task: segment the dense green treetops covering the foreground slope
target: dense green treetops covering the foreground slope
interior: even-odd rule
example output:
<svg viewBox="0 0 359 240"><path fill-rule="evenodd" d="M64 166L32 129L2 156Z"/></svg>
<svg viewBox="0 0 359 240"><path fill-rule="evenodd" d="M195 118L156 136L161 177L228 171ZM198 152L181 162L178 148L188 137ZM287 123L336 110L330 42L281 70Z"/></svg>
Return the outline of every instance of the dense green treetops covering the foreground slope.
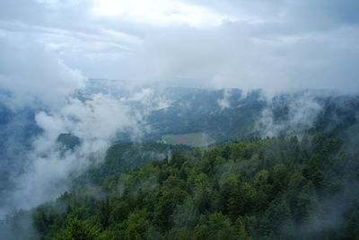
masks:
<svg viewBox="0 0 359 240"><path fill-rule="evenodd" d="M328 200L336 200L359 170L358 164L345 165L345 174L338 170L347 155L337 138L241 140L191 153L173 151L142 168L114 173L108 167L126 161L130 155L124 153L139 154L127 147L109 148L108 166L88 173L105 176L96 191L82 187L34 210L44 239L350 239L358 234L355 207L342 209L346 218L340 224L327 224L337 214ZM343 197L349 206L358 206L357 199L356 191Z"/></svg>

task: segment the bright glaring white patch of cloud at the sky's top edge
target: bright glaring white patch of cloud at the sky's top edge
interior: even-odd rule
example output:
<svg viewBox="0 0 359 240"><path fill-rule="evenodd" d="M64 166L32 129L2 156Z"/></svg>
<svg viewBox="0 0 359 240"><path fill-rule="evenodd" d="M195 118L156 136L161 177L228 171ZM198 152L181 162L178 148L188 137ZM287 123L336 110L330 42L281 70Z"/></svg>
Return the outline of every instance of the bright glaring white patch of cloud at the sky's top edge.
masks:
<svg viewBox="0 0 359 240"><path fill-rule="evenodd" d="M191 27L206 27L234 21L233 17L215 13L206 6L178 0L96 0L92 12L102 17L125 18L160 26L188 24Z"/></svg>

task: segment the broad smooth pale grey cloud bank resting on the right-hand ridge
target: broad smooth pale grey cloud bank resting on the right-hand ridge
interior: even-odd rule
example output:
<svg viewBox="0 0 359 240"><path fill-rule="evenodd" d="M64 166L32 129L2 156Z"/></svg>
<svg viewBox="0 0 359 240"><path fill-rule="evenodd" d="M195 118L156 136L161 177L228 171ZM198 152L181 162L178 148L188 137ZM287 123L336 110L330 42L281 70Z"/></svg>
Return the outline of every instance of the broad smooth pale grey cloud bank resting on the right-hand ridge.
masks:
<svg viewBox="0 0 359 240"><path fill-rule="evenodd" d="M149 36L128 61L128 76L202 86L288 89L329 88L356 93L356 27L327 33L253 36L241 23L211 30L176 29ZM135 71L136 69L136 71ZM193 82L193 80L192 80Z"/></svg>

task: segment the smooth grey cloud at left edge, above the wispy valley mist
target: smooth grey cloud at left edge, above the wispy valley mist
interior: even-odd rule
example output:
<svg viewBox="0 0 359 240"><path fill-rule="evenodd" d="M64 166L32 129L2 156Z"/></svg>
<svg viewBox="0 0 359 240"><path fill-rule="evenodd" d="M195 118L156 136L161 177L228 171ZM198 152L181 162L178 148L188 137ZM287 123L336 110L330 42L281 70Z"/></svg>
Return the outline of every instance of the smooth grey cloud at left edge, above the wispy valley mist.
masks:
<svg viewBox="0 0 359 240"><path fill-rule="evenodd" d="M56 106L66 101L84 77L31 41L0 40L1 88L13 93L13 106L42 102ZM10 102L6 102L10 103Z"/></svg>

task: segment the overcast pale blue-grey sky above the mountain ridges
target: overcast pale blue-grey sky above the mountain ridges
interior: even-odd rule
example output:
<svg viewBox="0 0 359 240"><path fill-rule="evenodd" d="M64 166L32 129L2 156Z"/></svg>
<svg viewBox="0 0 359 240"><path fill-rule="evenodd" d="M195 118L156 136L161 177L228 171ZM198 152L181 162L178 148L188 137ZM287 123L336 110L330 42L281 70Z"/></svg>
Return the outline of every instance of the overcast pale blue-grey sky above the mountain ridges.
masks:
<svg viewBox="0 0 359 240"><path fill-rule="evenodd" d="M77 80L357 93L358 12L357 0L2 0L0 79L54 58Z"/></svg>

